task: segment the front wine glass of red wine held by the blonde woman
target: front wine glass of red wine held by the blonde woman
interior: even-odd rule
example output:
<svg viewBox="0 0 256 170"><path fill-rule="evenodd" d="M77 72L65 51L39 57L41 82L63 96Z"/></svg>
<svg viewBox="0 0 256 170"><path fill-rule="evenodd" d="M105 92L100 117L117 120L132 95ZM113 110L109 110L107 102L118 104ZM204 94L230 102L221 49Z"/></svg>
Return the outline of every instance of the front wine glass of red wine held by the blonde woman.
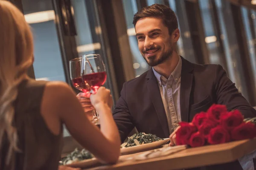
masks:
<svg viewBox="0 0 256 170"><path fill-rule="evenodd" d="M82 56L81 76L85 84L96 93L100 86L104 85L107 79L105 64L99 54L90 54ZM96 122L99 122L95 119Z"/></svg>

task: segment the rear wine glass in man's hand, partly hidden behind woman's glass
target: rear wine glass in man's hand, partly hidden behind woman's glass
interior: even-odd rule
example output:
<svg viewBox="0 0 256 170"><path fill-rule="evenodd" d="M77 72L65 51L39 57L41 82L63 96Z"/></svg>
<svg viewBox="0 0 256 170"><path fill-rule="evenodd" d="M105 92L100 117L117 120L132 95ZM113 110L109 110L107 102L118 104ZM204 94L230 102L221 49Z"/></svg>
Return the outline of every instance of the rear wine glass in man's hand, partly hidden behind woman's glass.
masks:
<svg viewBox="0 0 256 170"><path fill-rule="evenodd" d="M86 94L90 94L91 88L90 85L86 84L81 77L81 64L82 57L75 58L70 60L70 79L73 86L81 92ZM91 122L95 123L95 119L97 118L96 110L92 111Z"/></svg>

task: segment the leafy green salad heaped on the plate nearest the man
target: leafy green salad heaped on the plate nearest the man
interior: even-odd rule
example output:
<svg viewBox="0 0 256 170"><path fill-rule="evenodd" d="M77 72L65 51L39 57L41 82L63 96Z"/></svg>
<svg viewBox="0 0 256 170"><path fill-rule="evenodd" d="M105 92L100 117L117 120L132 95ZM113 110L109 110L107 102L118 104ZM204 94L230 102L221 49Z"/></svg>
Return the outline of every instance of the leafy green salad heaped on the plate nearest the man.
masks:
<svg viewBox="0 0 256 170"><path fill-rule="evenodd" d="M121 144L121 148L125 147L132 147L132 146L137 146L140 144L147 144L147 143L152 143L156 141L163 140L162 138L157 137L156 135L152 134L146 134L146 133L138 133L134 134L133 136L128 137L127 142L124 142Z"/></svg>

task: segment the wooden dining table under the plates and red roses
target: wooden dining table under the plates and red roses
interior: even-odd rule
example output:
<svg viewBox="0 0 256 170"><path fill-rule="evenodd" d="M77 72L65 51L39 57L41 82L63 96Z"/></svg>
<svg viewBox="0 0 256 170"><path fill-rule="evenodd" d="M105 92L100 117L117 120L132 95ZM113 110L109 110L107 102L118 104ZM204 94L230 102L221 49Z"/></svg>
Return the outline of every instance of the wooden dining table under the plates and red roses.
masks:
<svg viewBox="0 0 256 170"><path fill-rule="evenodd" d="M169 156L140 161L118 162L114 165L102 165L87 170L179 170L236 161L253 150L256 150L256 138L188 148ZM139 153L124 156L134 156L136 154ZM124 156L120 156L120 158Z"/></svg>

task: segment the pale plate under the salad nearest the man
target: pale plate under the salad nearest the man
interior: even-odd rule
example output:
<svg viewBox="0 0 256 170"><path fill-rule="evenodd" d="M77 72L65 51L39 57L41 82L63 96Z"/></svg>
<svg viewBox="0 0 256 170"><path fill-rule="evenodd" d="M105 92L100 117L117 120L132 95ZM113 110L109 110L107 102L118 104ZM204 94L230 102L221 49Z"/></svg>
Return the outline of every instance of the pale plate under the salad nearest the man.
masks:
<svg viewBox="0 0 256 170"><path fill-rule="evenodd" d="M144 151L144 150L154 149L156 147L162 146L163 144L166 144L169 140L170 140L170 138L166 138L164 140L152 142L152 143L148 143L148 144L140 144L137 146L125 147L125 148L121 149L121 154L123 155L123 154L128 154L128 153L137 153L137 152Z"/></svg>

